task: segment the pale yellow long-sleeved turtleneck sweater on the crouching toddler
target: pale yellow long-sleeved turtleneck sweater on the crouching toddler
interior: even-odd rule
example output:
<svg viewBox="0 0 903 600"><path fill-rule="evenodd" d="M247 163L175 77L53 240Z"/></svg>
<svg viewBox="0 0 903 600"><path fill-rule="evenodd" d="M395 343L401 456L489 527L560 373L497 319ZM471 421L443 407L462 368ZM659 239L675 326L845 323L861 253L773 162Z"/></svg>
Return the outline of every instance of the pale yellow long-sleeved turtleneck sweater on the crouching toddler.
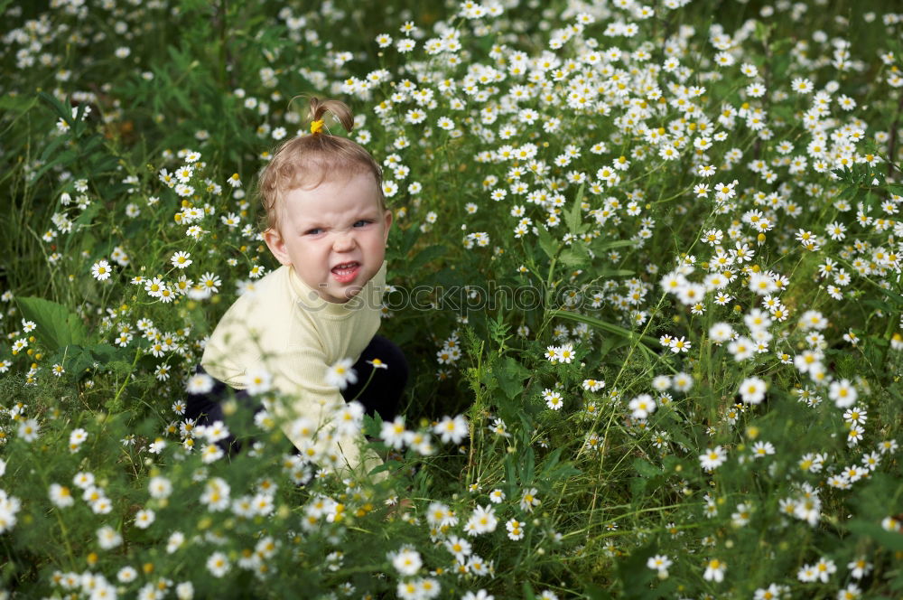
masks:
<svg viewBox="0 0 903 600"><path fill-rule="evenodd" d="M273 387L290 398L276 406L275 416L284 423L283 431L292 443L310 455L309 440L294 430L290 419L307 417L320 427L344 404L339 389L326 383L326 372L341 359L358 361L379 328L385 288L385 262L360 293L344 304L321 299L292 267L279 267L229 307L210 335L201 365L211 377L234 389L248 387L249 373L269 372ZM335 438L340 471L365 475L380 464L372 451L361 458L358 443L362 439ZM329 440L321 440L316 449L329 446Z"/></svg>

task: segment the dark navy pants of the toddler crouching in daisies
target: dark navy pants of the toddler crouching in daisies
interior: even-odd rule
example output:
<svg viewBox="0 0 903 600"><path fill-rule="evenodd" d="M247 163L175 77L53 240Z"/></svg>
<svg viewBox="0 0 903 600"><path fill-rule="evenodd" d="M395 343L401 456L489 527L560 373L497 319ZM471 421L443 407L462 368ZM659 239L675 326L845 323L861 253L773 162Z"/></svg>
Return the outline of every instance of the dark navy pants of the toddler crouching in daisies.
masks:
<svg viewBox="0 0 903 600"><path fill-rule="evenodd" d="M383 361L388 368L374 369L368 362L374 359ZM407 383L408 368L404 352L383 336L375 335L354 363L354 370L358 373L358 382L342 389L342 398L346 402L357 398L364 405L366 414L371 417L378 414L384 421L394 419ZM200 365L195 371L205 372ZM187 395L185 418L195 419L197 425L209 425L216 421L228 425L220 403L230 395L234 395L239 404L250 408L255 414L263 409L257 398L244 389L231 389L222 381L214 380L213 389L206 394ZM241 451L241 445L231 434L217 444L229 454Z"/></svg>

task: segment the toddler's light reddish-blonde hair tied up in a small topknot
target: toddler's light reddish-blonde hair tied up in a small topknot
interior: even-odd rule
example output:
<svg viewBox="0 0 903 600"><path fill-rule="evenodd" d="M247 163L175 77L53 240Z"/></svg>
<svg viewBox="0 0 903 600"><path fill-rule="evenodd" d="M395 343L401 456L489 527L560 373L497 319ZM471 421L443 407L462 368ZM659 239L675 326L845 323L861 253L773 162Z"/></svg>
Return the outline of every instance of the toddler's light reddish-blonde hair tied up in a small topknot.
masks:
<svg viewBox="0 0 903 600"><path fill-rule="evenodd" d="M314 97L309 105L308 119L312 123L323 121L329 112L348 133L354 128L351 109L344 102ZM349 177L372 173L379 191L379 208L386 210L383 173L373 156L347 137L332 136L325 127L318 129L316 133L296 136L279 145L261 173L257 194L265 211L264 229L278 225L278 205L287 192L301 187L315 188L337 174Z"/></svg>

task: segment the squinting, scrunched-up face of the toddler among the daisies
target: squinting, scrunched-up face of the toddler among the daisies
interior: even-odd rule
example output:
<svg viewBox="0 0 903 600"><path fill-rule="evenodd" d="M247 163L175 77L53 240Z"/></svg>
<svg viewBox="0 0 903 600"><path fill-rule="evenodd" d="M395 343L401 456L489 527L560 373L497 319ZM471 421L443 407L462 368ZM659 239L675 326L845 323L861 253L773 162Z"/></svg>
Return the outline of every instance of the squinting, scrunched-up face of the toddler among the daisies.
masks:
<svg viewBox="0 0 903 600"><path fill-rule="evenodd" d="M347 302L382 267L392 212L380 210L372 173L295 188L276 210L279 226L264 232L266 245L323 300Z"/></svg>

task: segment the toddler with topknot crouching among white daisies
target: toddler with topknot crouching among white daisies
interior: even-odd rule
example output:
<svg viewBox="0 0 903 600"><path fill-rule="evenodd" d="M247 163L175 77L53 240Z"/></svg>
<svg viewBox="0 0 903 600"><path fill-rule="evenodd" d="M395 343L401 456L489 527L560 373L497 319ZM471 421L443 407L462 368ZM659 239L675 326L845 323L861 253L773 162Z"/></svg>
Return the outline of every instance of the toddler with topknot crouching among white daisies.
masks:
<svg viewBox="0 0 903 600"><path fill-rule="evenodd" d="M310 434L329 430L330 415L354 398L370 415L396 416L407 365L395 344L376 335L392 212L379 165L360 145L330 135L327 111L348 132L354 127L345 104L312 98L311 133L280 145L261 174L263 237L282 267L219 321L200 363L214 389L189 394L186 415L199 424L224 420L219 400L227 386L247 401L263 378L287 398L273 412L299 451L363 475L379 459L359 455L359 436L334 433L313 445ZM340 391L334 366L345 359L358 379Z"/></svg>

